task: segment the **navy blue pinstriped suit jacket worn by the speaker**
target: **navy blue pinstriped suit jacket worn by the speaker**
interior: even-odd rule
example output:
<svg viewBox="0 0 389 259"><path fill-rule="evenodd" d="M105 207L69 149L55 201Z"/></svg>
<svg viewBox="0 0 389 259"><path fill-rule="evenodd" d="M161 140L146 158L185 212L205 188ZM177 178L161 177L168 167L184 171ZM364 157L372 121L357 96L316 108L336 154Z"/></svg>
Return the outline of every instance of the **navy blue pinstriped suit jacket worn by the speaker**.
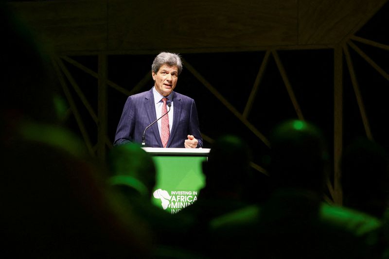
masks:
<svg viewBox="0 0 389 259"><path fill-rule="evenodd" d="M203 139L198 126L195 101L173 91L173 105L173 126L166 147L184 148L184 142L188 135L193 135L198 140L197 147L202 147ZM172 116L170 112L169 116ZM122 117L116 130L114 145L127 142L141 143L144 129L155 120L157 120L157 115L153 88L129 96L124 104ZM157 123L146 130L146 147L163 147Z"/></svg>

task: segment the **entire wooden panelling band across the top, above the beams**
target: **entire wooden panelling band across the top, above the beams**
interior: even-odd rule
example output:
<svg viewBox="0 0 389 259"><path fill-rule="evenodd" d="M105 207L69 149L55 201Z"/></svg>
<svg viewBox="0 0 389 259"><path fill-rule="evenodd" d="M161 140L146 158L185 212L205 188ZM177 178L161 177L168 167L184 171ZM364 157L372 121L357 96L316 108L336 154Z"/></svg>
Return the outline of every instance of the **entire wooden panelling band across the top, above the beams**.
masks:
<svg viewBox="0 0 389 259"><path fill-rule="evenodd" d="M57 52L264 50L337 44L387 0L10 2Z"/></svg>

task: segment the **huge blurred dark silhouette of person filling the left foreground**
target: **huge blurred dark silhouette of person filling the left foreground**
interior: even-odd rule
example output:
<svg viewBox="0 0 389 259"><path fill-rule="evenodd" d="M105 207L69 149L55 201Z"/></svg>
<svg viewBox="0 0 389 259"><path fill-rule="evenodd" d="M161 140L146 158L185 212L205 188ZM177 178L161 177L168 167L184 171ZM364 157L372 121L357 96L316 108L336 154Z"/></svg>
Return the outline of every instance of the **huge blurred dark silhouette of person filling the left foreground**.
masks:
<svg viewBox="0 0 389 259"><path fill-rule="evenodd" d="M116 206L99 177L103 170L79 138L56 124L48 59L3 2L0 21L1 255L147 257L147 228Z"/></svg>

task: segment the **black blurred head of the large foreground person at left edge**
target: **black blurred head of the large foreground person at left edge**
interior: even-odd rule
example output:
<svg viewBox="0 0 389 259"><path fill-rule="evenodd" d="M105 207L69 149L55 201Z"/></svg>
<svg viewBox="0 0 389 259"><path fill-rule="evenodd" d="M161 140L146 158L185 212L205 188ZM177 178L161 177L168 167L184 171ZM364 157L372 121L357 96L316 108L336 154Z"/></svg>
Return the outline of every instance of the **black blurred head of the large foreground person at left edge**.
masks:
<svg viewBox="0 0 389 259"><path fill-rule="evenodd" d="M0 3L0 116L3 120L55 122L61 102L48 55L36 37L5 3Z"/></svg>

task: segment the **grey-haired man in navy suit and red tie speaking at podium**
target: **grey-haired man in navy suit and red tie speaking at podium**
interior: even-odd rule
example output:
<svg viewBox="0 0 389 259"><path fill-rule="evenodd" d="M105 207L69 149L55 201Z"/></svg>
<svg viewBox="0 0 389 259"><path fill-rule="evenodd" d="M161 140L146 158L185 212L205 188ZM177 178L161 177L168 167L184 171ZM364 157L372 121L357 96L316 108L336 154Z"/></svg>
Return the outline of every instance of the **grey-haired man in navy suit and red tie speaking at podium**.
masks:
<svg viewBox="0 0 389 259"><path fill-rule="evenodd" d="M151 66L154 86L127 98L114 145L143 142L147 147L160 148L203 146L195 101L173 91L181 71L177 54L157 55Z"/></svg>

